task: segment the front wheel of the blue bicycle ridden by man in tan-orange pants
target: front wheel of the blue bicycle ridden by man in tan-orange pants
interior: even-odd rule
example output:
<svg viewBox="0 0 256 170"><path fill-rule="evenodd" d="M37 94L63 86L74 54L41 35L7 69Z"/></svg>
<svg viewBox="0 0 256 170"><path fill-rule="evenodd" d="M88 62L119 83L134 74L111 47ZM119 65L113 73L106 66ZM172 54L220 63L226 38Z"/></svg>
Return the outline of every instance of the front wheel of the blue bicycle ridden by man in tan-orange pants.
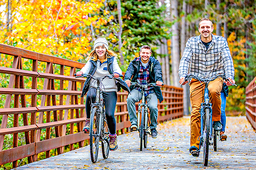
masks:
<svg viewBox="0 0 256 170"><path fill-rule="evenodd" d="M209 136L210 136L210 110L205 108L204 113L204 127L203 127L203 150L204 150L204 166L208 165L209 155Z"/></svg>

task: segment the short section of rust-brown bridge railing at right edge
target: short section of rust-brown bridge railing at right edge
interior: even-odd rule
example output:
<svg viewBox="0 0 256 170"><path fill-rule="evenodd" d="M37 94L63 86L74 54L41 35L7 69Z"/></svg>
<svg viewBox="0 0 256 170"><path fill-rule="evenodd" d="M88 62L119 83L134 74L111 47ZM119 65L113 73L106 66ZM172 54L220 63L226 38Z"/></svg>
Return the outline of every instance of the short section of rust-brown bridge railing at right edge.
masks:
<svg viewBox="0 0 256 170"><path fill-rule="evenodd" d="M246 117L256 129L256 77L246 87Z"/></svg>

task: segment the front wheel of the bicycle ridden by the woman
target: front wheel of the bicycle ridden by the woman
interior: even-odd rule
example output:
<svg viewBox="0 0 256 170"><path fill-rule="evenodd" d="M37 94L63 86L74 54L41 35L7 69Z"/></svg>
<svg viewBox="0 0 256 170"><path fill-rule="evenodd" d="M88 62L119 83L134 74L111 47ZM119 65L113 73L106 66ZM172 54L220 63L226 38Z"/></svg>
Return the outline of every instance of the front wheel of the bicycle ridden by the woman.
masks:
<svg viewBox="0 0 256 170"><path fill-rule="evenodd" d="M92 163L96 163L99 152L99 125L98 125L98 117L97 117L97 108L92 108L91 110L91 118L90 118L90 155Z"/></svg>

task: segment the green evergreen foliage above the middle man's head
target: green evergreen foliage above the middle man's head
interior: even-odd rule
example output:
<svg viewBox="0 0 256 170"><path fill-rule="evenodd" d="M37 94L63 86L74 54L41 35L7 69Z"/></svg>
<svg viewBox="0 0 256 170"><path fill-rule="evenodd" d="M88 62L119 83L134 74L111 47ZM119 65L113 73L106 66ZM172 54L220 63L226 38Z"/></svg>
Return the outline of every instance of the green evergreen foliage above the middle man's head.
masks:
<svg viewBox="0 0 256 170"><path fill-rule="evenodd" d="M142 45L159 45L157 40L170 38L167 31L171 25L163 17L165 9L164 5L158 7L157 0L122 1L122 39L125 41L124 48L129 50L129 55Z"/></svg>

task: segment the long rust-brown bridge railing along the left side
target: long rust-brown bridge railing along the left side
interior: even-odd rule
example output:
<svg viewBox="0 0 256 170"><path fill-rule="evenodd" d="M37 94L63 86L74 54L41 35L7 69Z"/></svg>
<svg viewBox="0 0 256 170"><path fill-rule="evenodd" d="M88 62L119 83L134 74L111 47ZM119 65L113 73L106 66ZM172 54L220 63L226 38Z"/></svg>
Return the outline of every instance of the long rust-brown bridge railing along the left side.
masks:
<svg viewBox="0 0 256 170"><path fill-rule="evenodd" d="M82 132L86 114L80 94L85 79L73 75L84 64L4 44L0 44L1 54L13 56L13 63L11 68L0 67L2 75L10 75L8 87L0 87L1 98L5 100L0 108L0 165L13 162L15 168L17 160L25 157L30 163L42 152L46 152L46 158L50 157L51 149L61 154L66 145L70 150L76 143L83 147L89 138ZM182 117L183 90L165 85L162 93L164 102L158 106L158 121ZM118 134L129 132L127 95L118 92L115 113ZM25 136L25 144L18 144L20 133ZM13 146L4 148L5 136L10 134L13 134Z"/></svg>

